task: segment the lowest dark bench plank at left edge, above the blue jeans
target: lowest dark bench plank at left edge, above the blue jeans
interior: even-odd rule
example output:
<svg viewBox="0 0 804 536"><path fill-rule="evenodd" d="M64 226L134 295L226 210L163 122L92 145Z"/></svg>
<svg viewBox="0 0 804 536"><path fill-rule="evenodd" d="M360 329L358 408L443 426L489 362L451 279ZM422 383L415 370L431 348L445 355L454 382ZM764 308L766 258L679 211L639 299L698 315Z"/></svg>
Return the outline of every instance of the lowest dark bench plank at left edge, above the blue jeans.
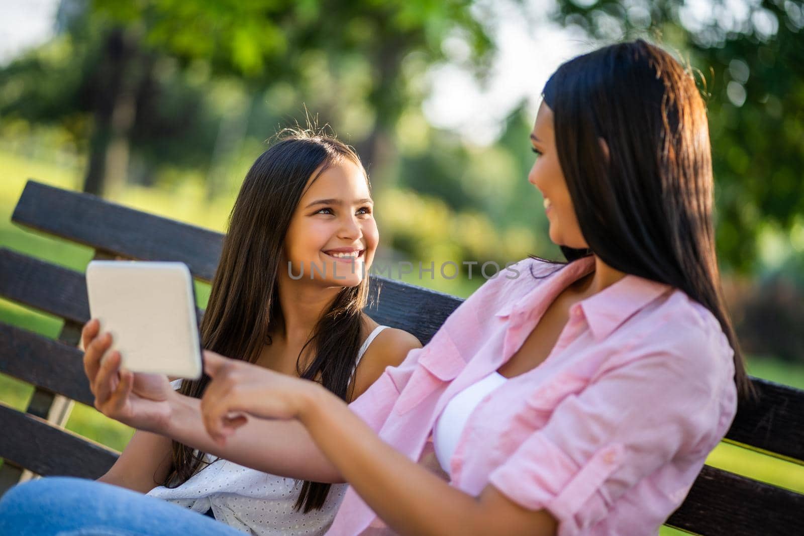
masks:
<svg viewBox="0 0 804 536"><path fill-rule="evenodd" d="M117 460L117 452L109 448L2 403L0 430L0 457L45 477L94 479Z"/></svg>

